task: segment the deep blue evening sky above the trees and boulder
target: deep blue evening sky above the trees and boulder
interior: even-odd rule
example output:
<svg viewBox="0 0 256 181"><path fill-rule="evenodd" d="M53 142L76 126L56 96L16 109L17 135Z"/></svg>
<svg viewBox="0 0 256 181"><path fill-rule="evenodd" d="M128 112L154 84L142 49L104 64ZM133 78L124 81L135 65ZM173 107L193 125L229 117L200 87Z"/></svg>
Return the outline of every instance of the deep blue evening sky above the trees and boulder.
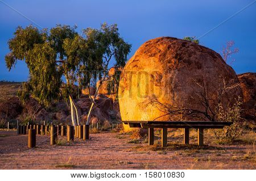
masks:
<svg viewBox="0 0 256 181"><path fill-rule="evenodd" d="M182 39L200 37L229 18L253 0L84 0L84 1L13 1L0 0L0 80L26 81L28 70L18 62L10 72L6 69L7 41L15 28L31 22L10 9L19 11L42 27L55 24L77 24L82 28L99 28L101 23L117 23L121 36L133 45L129 58L144 41L160 36ZM256 72L256 2L200 39L200 44L220 53L226 41L235 41L240 52L233 56L233 69L239 73Z"/></svg>

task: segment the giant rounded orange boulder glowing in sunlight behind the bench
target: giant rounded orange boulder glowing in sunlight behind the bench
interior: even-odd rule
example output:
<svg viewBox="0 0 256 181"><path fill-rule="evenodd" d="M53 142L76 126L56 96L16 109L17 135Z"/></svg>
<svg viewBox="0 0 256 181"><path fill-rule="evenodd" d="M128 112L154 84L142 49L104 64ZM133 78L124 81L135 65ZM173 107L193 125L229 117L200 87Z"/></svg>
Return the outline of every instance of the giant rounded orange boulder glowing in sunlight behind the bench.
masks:
<svg viewBox="0 0 256 181"><path fill-rule="evenodd" d="M146 41L127 62L122 71L118 99L122 120L170 120L155 104L189 107L204 111L196 95L207 87L210 104L216 104L216 90L223 80L239 83L234 70L220 54L190 41L159 37ZM226 92L224 101L242 96L240 86ZM179 116L172 117L172 120Z"/></svg>

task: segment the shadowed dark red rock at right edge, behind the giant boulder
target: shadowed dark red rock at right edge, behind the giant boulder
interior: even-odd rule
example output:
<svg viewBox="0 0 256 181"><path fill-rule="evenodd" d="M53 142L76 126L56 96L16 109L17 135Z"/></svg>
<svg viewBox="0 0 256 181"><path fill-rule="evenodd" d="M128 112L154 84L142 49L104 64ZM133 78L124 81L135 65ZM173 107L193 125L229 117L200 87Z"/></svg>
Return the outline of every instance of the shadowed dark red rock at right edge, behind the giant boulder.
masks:
<svg viewBox="0 0 256 181"><path fill-rule="evenodd" d="M243 92L243 117L255 121L255 95L256 95L256 73L243 73L238 75Z"/></svg>

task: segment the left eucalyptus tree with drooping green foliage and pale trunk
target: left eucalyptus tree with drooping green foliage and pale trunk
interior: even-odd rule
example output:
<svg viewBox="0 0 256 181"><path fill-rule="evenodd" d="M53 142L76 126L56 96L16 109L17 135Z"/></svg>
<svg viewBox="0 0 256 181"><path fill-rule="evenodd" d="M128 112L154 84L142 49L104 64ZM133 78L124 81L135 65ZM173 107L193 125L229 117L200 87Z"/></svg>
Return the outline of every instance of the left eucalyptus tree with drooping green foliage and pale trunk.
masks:
<svg viewBox="0 0 256 181"><path fill-rule="evenodd" d="M32 26L18 27L13 39L8 41L10 53L6 54L5 61L9 70L18 60L25 61L27 64L29 79L23 83L23 89L20 92L22 100L27 100L31 95L40 104L49 106L60 98L69 99L72 123L77 125L80 124L80 116L72 98L72 92L76 82L77 66L82 59L81 55L69 57L64 49L68 47L69 39L74 41L81 39L76 32L76 27L57 25L49 31L38 30ZM67 81L66 84L62 81L63 76Z"/></svg>

